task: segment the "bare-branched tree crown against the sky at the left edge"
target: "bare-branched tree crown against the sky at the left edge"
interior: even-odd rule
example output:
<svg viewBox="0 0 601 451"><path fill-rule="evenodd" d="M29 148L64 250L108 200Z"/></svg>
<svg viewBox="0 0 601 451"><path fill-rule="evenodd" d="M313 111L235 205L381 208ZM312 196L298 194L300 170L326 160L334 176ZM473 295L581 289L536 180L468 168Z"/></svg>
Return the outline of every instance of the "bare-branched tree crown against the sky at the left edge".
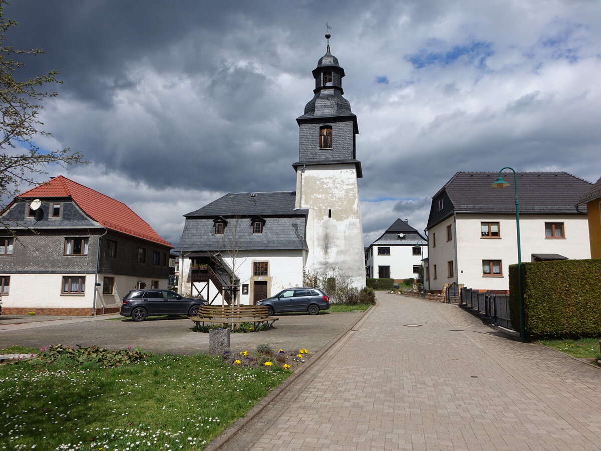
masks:
<svg viewBox="0 0 601 451"><path fill-rule="evenodd" d="M70 149L43 152L35 144L34 138L51 136L40 129L43 122L38 118L42 108L40 102L55 97L55 92L40 90L48 83L62 83L56 79L58 72L52 71L34 78L18 80L17 70L25 67L13 57L35 56L43 54L42 49L15 49L6 43L5 32L17 22L4 17L4 6L8 3L0 0L0 208L15 197L23 185L35 185L35 174L46 174L49 164L67 167L83 162L83 155ZM1 222L0 224L4 225Z"/></svg>

